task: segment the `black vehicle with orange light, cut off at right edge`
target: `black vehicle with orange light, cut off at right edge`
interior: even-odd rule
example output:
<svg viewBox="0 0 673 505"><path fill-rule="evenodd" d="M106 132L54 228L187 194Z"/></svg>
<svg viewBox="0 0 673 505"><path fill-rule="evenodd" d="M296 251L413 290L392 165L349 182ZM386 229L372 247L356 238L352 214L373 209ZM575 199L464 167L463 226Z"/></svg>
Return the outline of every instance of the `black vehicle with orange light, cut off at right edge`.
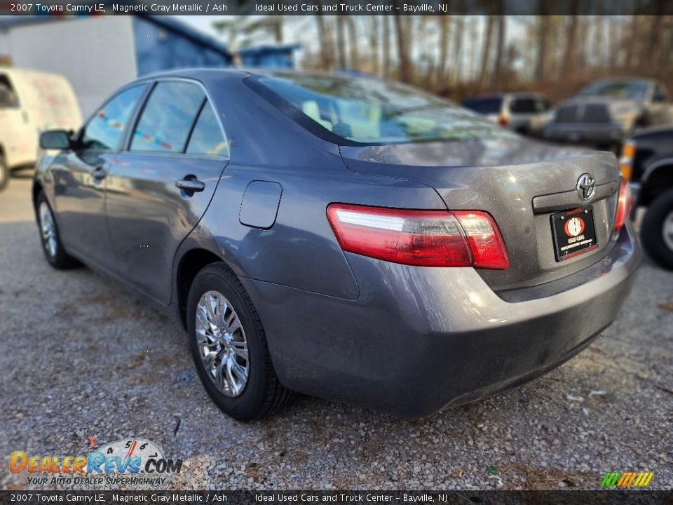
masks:
<svg viewBox="0 0 673 505"><path fill-rule="evenodd" d="M631 180L637 206L647 206L641 238L662 267L673 269L673 127L632 135L622 148L622 173Z"/></svg>

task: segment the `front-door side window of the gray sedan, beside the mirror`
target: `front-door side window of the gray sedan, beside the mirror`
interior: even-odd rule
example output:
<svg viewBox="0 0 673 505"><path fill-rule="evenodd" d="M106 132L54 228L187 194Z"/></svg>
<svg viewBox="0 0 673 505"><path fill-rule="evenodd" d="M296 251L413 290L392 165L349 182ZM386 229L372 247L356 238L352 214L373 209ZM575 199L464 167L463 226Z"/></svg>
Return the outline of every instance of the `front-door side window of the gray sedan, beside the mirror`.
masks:
<svg viewBox="0 0 673 505"><path fill-rule="evenodd" d="M84 127L81 137L83 149L117 149L144 89L144 84L128 88L103 105Z"/></svg>

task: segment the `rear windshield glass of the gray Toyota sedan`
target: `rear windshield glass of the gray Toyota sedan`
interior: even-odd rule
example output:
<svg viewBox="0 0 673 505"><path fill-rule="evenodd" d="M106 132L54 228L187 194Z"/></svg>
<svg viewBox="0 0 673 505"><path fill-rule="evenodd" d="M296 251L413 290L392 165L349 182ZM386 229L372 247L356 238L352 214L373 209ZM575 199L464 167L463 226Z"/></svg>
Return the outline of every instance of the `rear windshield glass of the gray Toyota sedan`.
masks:
<svg viewBox="0 0 673 505"><path fill-rule="evenodd" d="M452 102L381 79L278 72L258 82L301 111L292 117L318 136L327 130L382 144L513 135Z"/></svg>

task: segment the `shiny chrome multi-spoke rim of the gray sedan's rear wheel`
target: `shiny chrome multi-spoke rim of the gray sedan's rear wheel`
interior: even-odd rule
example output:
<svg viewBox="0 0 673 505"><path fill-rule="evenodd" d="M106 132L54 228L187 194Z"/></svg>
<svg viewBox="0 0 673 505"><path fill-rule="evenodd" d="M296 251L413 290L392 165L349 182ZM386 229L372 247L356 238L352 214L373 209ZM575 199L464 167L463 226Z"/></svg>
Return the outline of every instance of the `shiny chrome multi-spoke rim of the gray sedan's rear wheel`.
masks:
<svg viewBox="0 0 673 505"><path fill-rule="evenodd" d="M231 302L208 291L196 306L196 344L205 372L226 396L243 393L250 362L247 340Z"/></svg>

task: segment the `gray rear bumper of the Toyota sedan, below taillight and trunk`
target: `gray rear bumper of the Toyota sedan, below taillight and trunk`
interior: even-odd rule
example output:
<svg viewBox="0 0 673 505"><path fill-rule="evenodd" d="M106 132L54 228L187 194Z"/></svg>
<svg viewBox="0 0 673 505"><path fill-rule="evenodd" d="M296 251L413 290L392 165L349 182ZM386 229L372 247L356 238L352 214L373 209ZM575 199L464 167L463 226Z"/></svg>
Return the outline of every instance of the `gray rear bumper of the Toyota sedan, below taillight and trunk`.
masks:
<svg viewBox="0 0 673 505"><path fill-rule="evenodd" d="M616 318L641 253L629 224L592 267L499 295L474 269L347 257L355 300L241 279L276 372L296 391L423 417L577 354Z"/></svg>

